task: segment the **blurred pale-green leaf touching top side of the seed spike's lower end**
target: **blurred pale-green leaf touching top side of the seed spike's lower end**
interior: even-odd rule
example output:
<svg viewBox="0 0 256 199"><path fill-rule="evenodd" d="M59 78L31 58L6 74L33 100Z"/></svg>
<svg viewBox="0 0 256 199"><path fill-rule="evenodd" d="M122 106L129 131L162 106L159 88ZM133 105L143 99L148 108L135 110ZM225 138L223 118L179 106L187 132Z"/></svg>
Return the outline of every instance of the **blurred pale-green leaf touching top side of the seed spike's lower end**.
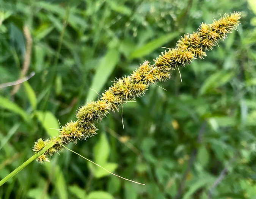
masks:
<svg viewBox="0 0 256 199"><path fill-rule="evenodd" d="M36 116L51 138L57 135L58 129L60 129L60 125L52 112L36 111Z"/></svg>

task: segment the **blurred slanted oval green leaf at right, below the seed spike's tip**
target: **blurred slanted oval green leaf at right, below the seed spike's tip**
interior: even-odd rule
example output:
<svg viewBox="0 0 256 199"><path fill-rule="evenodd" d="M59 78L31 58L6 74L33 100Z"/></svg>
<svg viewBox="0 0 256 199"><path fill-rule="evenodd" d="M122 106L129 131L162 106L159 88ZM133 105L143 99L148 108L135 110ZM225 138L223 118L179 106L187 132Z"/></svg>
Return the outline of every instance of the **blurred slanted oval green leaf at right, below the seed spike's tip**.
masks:
<svg viewBox="0 0 256 199"><path fill-rule="evenodd" d="M224 85L234 76L233 72L228 71L219 71L212 74L204 82L203 86L200 89L200 94L205 94L210 92L212 89L217 88L218 86Z"/></svg>

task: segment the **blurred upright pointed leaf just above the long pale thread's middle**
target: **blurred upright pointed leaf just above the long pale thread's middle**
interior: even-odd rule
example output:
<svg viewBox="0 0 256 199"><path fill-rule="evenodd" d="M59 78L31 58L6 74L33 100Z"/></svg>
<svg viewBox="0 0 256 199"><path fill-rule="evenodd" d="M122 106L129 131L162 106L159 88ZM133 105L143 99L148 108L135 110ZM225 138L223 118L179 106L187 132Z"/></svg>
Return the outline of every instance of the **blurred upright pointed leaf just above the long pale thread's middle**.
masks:
<svg viewBox="0 0 256 199"><path fill-rule="evenodd" d="M101 133L101 138L95 144L93 148L95 163L103 166L107 163L110 153L110 146L108 144L107 136L105 133Z"/></svg>

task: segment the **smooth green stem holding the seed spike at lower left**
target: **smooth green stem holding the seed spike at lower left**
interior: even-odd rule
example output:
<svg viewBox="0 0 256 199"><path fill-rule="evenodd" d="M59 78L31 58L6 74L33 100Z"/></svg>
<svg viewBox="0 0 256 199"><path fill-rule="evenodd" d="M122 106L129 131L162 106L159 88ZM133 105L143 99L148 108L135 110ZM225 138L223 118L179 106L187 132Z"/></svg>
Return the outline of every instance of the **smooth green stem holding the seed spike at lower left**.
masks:
<svg viewBox="0 0 256 199"><path fill-rule="evenodd" d="M2 186L5 182L7 182L10 178L12 178L14 175L16 175L18 172L20 172L22 169L25 168L25 166L27 166L29 163L31 163L33 160L35 160L37 157L39 157L40 155L44 154L44 152L46 152L48 149L50 149L51 147L53 147L54 144L56 144L56 142L60 139L60 137L55 138L52 142L50 142L49 144L47 144L42 150L40 150L38 153L36 153L35 155L33 155L32 157L30 157L27 161L25 161L22 165L20 165L19 167L17 167L13 172L11 172L9 175L7 175L4 179L2 179L0 181L0 186Z"/></svg>

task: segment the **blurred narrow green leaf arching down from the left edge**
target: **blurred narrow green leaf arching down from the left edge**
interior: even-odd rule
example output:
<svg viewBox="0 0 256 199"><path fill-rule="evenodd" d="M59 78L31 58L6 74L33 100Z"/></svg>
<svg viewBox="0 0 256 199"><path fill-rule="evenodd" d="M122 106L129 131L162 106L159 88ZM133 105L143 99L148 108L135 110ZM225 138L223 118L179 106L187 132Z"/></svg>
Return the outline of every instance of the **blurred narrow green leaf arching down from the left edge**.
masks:
<svg viewBox="0 0 256 199"><path fill-rule="evenodd" d="M0 107L19 114L26 122L30 122L28 114L22 110L16 103L11 102L9 99L0 96Z"/></svg>

